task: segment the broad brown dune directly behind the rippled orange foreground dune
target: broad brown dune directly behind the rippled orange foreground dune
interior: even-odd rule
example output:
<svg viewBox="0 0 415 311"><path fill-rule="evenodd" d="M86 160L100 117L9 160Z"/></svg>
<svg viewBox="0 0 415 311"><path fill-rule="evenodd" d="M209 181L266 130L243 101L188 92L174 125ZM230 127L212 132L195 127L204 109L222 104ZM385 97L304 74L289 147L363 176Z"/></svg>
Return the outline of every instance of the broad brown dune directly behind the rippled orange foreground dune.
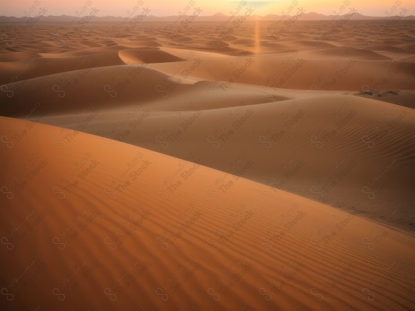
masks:
<svg viewBox="0 0 415 311"><path fill-rule="evenodd" d="M205 92L188 90L118 111L88 106L82 116L38 120L182 159L191 152L208 167L264 183L267 193L284 189L414 235L415 180L407 169L414 161L412 109L351 95L252 104L260 95L236 89L216 100L216 107L234 106L205 110L203 100L189 100L203 99ZM216 190L224 192L226 184L219 182Z"/></svg>

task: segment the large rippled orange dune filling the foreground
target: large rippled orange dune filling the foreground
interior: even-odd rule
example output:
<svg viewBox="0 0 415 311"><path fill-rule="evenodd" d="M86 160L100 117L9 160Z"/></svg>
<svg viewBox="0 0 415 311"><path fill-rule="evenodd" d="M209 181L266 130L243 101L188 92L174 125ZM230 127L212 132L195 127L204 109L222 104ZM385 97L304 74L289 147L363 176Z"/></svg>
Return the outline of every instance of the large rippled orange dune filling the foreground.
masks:
<svg viewBox="0 0 415 311"><path fill-rule="evenodd" d="M1 117L2 305L21 310L415 308L413 239L169 156ZM233 180L225 194L216 180ZM42 243L39 243L42 239ZM10 256L13 254L13 256ZM42 286L39 285L42 284Z"/></svg>

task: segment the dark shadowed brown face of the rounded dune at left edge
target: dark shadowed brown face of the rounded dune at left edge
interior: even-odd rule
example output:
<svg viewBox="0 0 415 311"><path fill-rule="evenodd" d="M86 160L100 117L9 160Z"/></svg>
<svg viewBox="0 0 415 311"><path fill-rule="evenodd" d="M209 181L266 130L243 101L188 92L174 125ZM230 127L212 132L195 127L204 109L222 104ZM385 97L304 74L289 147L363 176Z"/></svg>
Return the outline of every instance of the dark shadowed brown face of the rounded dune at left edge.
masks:
<svg viewBox="0 0 415 311"><path fill-rule="evenodd" d="M160 85L159 88L156 88ZM7 84L2 93L1 111L6 115L27 115L39 103L43 113L82 111L95 105L116 108L118 102L134 104L143 100L163 98L163 86L180 93L185 84L169 79L167 75L139 65L120 65L73 70ZM79 94L84 95L80 98ZM28 95L30 100L28 101ZM33 113L42 113L35 109Z"/></svg>

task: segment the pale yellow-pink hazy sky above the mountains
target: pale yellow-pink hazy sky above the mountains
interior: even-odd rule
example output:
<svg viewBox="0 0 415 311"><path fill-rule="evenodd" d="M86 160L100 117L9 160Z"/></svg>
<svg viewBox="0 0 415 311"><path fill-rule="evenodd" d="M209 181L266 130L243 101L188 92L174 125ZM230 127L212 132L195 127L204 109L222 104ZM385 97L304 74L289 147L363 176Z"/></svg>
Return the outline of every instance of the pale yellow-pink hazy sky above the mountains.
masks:
<svg viewBox="0 0 415 311"><path fill-rule="evenodd" d="M238 8L242 9L237 15L243 15L247 8L252 8L255 15L280 15L288 11L289 15L296 15L299 9L326 15L333 12L343 15L353 9L371 16L399 15L405 9L405 15L415 15L414 0L0 0L0 15L16 17L36 17L39 12L44 12L44 15L84 16L93 13L127 17L142 14L143 8L150 10L149 15L156 16L192 15L194 12L199 15L217 12L232 15ZM200 10L196 11L196 8Z"/></svg>

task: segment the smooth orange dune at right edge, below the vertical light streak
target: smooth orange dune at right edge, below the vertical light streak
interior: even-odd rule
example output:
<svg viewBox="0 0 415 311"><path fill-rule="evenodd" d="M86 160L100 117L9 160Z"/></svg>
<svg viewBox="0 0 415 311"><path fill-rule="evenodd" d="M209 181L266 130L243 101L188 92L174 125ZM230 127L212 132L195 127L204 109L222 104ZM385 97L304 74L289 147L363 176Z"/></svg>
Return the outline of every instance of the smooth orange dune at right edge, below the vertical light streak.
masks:
<svg viewBox="0 0 415 311"><path fill-rule="evenodd" d="M163 50L175 55L173 49ZM212 55L199 57L201 64L194 68L192 75L201 79L230 83L303 90L360 91L366 87L386 90L413 88L415 62L412 57L407 55L404 59L376 60L387 57L370 50L356 55L350 54L349 51L344 49L344 55L338 57L324 57L324 51L223 57ZM181 53L183 51L178 55ZM337 55L337 52L334 54ZM177 73L180 67L181 64L178 63L151 65L151 68L164 70L168 74Z"/></svg>

